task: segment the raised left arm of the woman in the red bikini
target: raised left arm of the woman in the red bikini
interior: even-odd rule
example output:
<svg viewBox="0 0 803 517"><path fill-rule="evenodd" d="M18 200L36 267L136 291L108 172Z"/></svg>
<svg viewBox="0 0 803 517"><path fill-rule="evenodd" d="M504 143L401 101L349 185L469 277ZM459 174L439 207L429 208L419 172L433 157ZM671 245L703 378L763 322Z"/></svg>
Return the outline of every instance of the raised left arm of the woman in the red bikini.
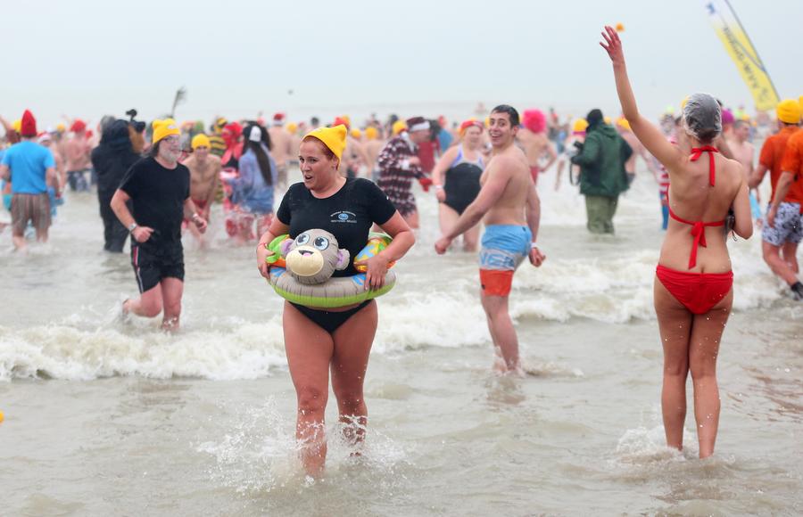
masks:
<svg viewBox="0 0 803 517"><path fill-rule="evenodd" d="M683 159L683 155L675 145L670 144L658 127L655 127L650 120L642 117L635 102L633 87L630 86L630 79L627 78L627 67L625 66L625 53L622 50L622 40L619 39L617 31L606 25L602 31L602 48L608 53L613 64L614 78L617 81L617 94L619 103L622 105L622 113L625 119L630 122L633 134L644 144L664 167L676 169Z"/></svg>

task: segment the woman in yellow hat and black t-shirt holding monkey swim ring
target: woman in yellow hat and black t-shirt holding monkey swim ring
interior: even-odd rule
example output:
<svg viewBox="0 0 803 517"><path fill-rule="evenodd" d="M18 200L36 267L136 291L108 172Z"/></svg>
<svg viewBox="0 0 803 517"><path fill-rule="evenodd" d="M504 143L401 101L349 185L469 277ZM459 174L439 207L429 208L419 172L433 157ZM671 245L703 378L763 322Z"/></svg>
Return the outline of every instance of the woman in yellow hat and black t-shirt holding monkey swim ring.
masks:
<svg viewBox="0 0 803 517"><path fill-rule="evenodd" d="M410 226L377 185L339 173L346 133L346 127L340 125L319 127L304 136L298 150L303 181L287 190L257 246L262 276L269 277L265 260L272 251L268 244L277 235L296 239L310 229L326 230L340 248L356 257L368 242L371 227L377 225L393 242L358 264L367 267L366 289L379 289L385 283L388 264L402 259L415 242ZM335 276L357 274L352 260L345 262L347 266L335 270ZM295 436L304 469L312 476L320 475L326 464L324 417L330 371L340 422L345 424L344 438L360 447L365 437L368 411L363 382L377 319L377 300L326 310L285 301L285 349L298 401Z"/></svg>

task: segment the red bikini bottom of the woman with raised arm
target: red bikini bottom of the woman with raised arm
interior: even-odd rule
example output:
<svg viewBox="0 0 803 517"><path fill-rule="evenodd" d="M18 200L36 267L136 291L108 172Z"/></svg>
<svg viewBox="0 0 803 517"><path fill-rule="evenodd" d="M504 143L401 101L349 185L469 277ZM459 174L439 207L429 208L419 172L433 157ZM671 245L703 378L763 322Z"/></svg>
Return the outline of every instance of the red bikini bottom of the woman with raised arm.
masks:
<svg viewBox="0 0 803 517"><path fill-rule="evenodd" d="M733 271L686 273L658 265L655 275L676 300L694 314L706 314L733 287Z"/></svg>

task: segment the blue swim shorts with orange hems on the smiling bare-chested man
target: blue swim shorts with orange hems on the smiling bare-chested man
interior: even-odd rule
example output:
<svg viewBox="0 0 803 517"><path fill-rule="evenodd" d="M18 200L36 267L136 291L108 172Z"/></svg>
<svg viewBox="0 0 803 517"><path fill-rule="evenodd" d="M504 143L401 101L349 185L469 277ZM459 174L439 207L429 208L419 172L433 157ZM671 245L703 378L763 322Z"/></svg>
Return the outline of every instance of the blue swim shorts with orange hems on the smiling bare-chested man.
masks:
<svg viewBox="0 0 803 517"><path fill-rule="evenodd" d="M533 233L527 226L485 226L480 250L480 283L485 296L508 296L513 272L530 254Z"/></svg>

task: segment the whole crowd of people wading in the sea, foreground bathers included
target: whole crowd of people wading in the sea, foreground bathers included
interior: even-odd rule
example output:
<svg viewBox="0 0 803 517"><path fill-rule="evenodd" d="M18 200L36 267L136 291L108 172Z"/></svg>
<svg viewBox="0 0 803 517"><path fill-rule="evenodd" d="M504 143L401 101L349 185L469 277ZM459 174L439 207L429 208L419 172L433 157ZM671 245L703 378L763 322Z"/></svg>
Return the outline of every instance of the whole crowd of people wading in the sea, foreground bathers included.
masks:
<svg viewBox="0 0 803 517"><path fill-rule="evenodd" d="M566 119L552 109L519 114L500 104L463 121L372 116L358 123L343 115L293 122L277 112L270 120L218 117L207 127L172 118L145 123L132 110L127 118L104 117L92 129L71 119L42 130L25 111L11 123L0 119L0 228L11 226L17 250L34 238L44 242L64 193L94 190L104 250L122 252L130 236L139 296L126 300L122 313L161 315L164 329L178 330L182 235L206 246L213 204L222 205L233 242L256 246L257 267L266 278L277 237L289 235L296 249L312 256L313 248L326 249L331 235L342 248L335 247L333 276L364 271L365 289L378 290L388 267L415 243L418 182L439 201L442 236L435 252L456 250L456 241L462 250L479 252L480 300L495 368L521 373L508 303L517 268L525 260L539 267L546 259L537 244L537 189L577 185L588 230L613 234L618 196L633 183L641 159L654 177L656 210L666 230L655 277L666 442L683 447L691 372L700 456L706 457L713 454L719 418L716 357L733 304L727 236L747 239L754 223L760 226L767 265L791 297L803 300L796 259L803 238L803 97L783 100L773 119L767 113L751 118L709 94L691 94L679 114L667 111L654 124L637 108L617 32L606 28L602 37L621 103L617 119L599 109ZM761 140L757 153L752 143ZM551 168L555 184L538 185ZM291 185L288 171L296 169L302 181ZM761 200L756 189L767 172L772 193ZM372 229L389 236L381 251L353 263L337 255L357 257ZM310 230L325 236L310 242ZM330 372L341 419L353 424L346 426L347 438L359 447L364 437L362 382L377 320L372 299L325 308L286 301L286 354L308 472L325 464Z"/></svg>

